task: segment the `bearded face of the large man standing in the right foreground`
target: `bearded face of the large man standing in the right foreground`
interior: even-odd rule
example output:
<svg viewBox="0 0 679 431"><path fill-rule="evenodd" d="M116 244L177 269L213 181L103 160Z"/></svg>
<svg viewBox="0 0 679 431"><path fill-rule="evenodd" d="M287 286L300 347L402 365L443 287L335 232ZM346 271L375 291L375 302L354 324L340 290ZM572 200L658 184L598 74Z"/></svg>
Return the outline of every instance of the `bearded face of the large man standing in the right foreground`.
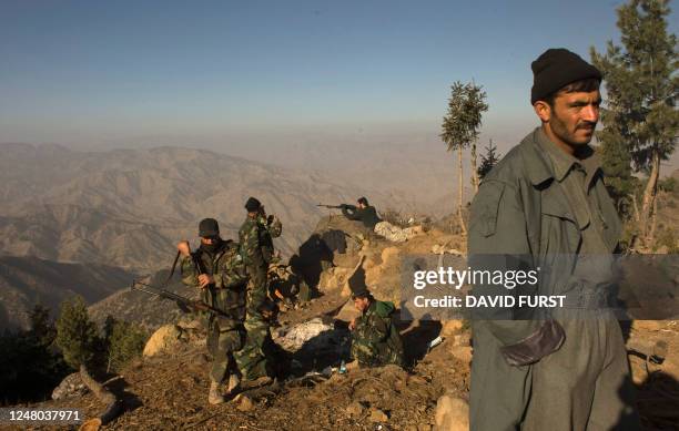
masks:
<svg viewBox="0 0 679 431"><path fill-rule="evenodd" d="M599 121L600 103L601 95L598 90L559 93L554 100L554 106L546 104L547 112L538 112L538 115L546 121L555 138L570 147L578 147L591 141Z"/></svg>

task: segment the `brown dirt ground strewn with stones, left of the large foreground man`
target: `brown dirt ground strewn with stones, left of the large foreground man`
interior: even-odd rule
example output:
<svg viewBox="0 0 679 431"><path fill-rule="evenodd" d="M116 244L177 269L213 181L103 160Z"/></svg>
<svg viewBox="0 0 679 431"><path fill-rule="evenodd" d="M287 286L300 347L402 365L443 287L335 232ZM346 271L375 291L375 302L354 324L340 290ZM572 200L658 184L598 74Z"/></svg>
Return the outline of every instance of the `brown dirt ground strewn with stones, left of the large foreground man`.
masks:
<svg viewBox="0 0 679 431"><path fill-rule="evenodd" d="M346 299L327 296L281 316L283 325L305 321L333 310ZM438 333L438 325L412 326L420 349ZM453 340L436 346L414 369L388 366L356 369L330 379L282 381L257 392L252 406L239 401L206 402L210 358L204 347L184 345L169 356L136 361L108 387L122 397L125 413L111 430L430 430L436 401L446 390L465 397L469 368L449 355ZM304 360L306 371L311 358ZM324 363L313 361L318 368ZM36 406L38 407L38 406ZM91 393L80 399L50 401L40 408L78 407L88 418L103 411ZM243 411L245 410L245 411ZM379 428L381 427L381 428Z"/></svg>

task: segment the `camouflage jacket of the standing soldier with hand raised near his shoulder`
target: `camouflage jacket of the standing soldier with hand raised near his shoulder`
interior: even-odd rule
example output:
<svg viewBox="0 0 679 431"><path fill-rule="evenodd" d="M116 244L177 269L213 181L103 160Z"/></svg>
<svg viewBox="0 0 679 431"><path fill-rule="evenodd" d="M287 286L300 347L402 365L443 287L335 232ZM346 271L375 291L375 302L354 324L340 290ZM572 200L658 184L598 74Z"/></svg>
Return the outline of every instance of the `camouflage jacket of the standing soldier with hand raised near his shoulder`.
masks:
<svg viewBox="0 0 679 431"><path fill-rule="evenodd" d="M252 275L253 283L262 283L260 278L266 277L266 270L274 255L273 238L281 236L283 225L274 217L246 217L239 230L241 243L241 255L245 261L249 274Z"/></svg>

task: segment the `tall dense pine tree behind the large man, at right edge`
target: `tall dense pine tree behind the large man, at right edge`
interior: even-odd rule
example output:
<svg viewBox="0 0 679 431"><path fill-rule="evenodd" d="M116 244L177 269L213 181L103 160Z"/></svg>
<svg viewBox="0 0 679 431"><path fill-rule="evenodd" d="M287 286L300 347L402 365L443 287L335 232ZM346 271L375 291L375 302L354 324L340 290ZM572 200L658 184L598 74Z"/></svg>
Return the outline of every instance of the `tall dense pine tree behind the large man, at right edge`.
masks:
<svg viewBox="0 0 679 431"><path fill-rule="evenodd" d="M618 9L622 47L609 41L606 53L591 48L591 59L605 75L607 103L601 112L604 166L614 175L614 195L634 192L634 171L648 177L638 215L646 245L652 242L660 162L675 151L679 93L675 34L668 33L669 0L631 0ZM617 184L616 184L617 183ZM632 205L636 201L630 199Z"/></svg>

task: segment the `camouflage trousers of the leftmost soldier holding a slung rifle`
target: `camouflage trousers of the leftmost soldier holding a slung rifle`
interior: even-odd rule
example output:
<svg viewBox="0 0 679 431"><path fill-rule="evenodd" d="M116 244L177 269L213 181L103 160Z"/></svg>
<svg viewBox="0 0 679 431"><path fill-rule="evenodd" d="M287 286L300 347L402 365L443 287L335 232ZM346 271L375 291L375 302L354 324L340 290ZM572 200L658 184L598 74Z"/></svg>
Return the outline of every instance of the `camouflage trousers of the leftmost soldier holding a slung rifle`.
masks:
<svg viewBox="0 0 679 431"><path fill-rule="evenodd" d="M212 380L221 383L226 376L237 372L234 353L243 347L244 338L245 331L242 327L221 330L219 325L211 325L207 351L213 357L210 370Z"/></svg>

